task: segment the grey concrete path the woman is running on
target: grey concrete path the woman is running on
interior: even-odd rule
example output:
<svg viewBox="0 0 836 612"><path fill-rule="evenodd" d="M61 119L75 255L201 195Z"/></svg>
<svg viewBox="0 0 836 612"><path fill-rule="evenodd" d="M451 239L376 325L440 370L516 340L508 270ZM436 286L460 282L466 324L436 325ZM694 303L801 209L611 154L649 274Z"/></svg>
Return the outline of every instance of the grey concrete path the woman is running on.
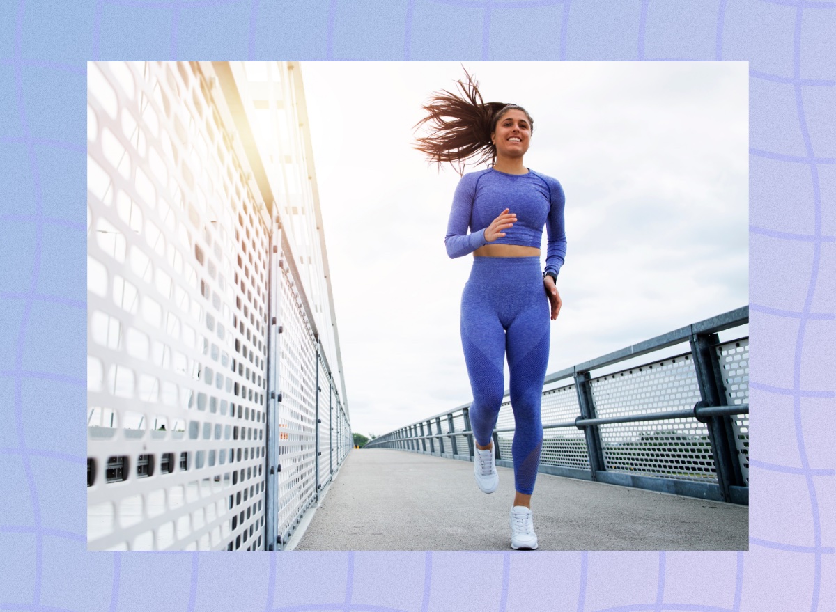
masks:
<svg viewBox="0 0 836 612"><path fill-rule="evenodd" d="M351 451L297 550L510 550L513 472L486 495L473 464ZM538 474L539 550L747 550L749 509Z"/></svg>

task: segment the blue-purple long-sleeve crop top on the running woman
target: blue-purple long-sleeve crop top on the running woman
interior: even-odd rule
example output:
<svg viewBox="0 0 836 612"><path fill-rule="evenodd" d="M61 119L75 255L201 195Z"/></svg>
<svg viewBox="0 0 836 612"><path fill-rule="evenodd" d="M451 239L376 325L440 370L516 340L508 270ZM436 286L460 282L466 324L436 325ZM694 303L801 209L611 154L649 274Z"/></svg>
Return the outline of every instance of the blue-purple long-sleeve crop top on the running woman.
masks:
<svg viewBox="0 0 836 612"><path fill-rule="evenodd" d="M470 172L461 177L453 196L444 239L447 255L460 258L485 246L485 228L507 208L517 215L517 222L492 244L540 248L545 225L548 243L544 272L557 275L566 257L564 204L563 187L551 176L533 170L527 174L506 174L493 168Z"/></svg>

